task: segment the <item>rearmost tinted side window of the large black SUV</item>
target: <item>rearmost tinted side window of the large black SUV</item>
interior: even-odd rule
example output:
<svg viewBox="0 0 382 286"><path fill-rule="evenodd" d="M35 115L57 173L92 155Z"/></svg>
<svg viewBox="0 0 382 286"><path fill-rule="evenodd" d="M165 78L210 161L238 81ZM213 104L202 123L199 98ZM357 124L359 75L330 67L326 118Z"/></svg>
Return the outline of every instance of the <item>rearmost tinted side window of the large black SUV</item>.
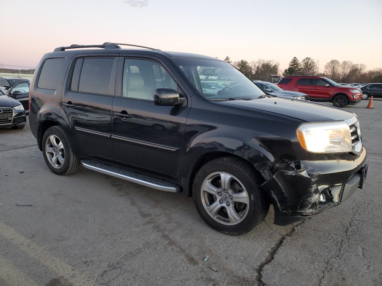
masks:
<svg viewBox="0 0 382 286"><path fill-rule="evenodd" d="M57 90L58 79L60 78L65 58L47 59L42 66L37 87L43 89Z"/></svg>

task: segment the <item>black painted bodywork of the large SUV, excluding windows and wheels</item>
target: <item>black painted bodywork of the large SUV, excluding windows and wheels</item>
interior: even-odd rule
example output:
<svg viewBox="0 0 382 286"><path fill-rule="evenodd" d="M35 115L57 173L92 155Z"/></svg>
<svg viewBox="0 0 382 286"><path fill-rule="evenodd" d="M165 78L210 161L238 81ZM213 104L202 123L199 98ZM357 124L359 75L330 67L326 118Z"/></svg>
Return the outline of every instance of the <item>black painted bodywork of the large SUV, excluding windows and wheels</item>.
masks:
<svg viewBox="0 0 382 286"><path fill-rule="evenodd" d="M117 66L113 65L110 80L110 86L115 86L112 94L70 90L70 76L76 59L81 57L114 58ZM44 55L31 82L29 115L40 150L44 131L60 125L80 159L92 158L162 178L180 185L188 196L194 176L205 162L220 156L240 157L261 174L262 188L274 204L275 221L280 224L285 224L284 218L293 221L318 213L323 205L317 194L330 186L345 185L365 165L363 147L358 154L314 154L302 148L296 133L303 123L345 121L354 116L352 112L277 97L210 101L185 76L173 60L176 57L217 60L138 49L70 50ZM52 58L65 58L57 89L39 88L44 62ZM123 98L125 58L149 59L165 67L184 103L157 106L150 100ZM129 117L123 119L122 111Z"/></svg>

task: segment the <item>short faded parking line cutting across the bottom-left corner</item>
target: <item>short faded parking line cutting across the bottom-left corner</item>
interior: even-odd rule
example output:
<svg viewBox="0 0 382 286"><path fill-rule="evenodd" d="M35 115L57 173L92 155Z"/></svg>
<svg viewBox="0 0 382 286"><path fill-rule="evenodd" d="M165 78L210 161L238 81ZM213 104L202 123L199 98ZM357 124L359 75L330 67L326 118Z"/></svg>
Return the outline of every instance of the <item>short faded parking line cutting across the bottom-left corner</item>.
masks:
<svg viewBox="0 0 382 286"><path fill-rule="evenodd" d="M9 285L38 286L24 272L14 267L5 257L0 255L0 277Z"/></svg>

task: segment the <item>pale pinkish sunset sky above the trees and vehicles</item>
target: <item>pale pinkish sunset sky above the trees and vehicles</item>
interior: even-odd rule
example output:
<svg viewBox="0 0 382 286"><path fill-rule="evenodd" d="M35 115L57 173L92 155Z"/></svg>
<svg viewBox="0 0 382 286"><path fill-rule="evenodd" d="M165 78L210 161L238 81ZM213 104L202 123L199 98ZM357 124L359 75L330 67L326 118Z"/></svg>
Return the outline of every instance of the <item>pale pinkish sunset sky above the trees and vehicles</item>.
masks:
<svg viewBox="0 0 382 286"><path fill-rule="evenodd" d="M224 59L297 56L382 67L382 0L2 1L0 65L35 67L55 47L134 43ZM9 11L4 12L4 11Z"/></svg>

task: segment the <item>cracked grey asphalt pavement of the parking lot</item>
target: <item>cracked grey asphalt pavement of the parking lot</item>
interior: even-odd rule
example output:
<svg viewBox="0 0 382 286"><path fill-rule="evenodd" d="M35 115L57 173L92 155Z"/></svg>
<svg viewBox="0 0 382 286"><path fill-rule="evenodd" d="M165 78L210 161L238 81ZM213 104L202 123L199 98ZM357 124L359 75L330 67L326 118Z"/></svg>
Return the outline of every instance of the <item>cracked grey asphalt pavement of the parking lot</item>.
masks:
<svg viewBox="0 0 382 286"><path fill-rule="evenodd" d="M181 193L55 175L29 125L0 129L0 285L382 285L382 100L367 103L346 108L369 153L363 190L287 227L271 208L243 236L209 228Z"/></svg>

